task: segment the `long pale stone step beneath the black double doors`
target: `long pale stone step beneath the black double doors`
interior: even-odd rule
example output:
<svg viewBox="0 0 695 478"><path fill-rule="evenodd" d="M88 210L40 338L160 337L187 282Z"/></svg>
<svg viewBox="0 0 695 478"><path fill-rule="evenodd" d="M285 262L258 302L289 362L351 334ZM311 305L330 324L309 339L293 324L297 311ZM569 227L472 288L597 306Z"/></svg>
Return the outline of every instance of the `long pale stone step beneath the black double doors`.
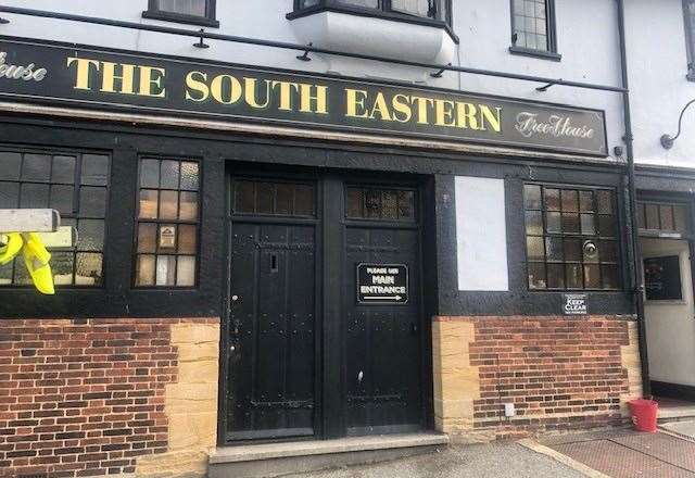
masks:
<svg viewBox="0 0 695 478"><path fill-rule="evenodd" d="M210 478L269 478L434 452L448 444L435 432L351 437L220 446L210 456Z"/></svg>

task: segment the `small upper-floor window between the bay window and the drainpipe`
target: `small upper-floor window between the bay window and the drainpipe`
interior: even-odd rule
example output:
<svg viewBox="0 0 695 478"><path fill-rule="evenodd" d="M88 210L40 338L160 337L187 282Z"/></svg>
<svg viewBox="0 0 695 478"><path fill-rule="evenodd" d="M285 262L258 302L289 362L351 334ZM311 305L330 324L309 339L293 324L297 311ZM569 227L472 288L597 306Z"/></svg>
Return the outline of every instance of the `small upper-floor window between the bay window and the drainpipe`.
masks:
<svg viewBox="0 0 695 478"><path fill-rule="evenodd" d="M513 53L559 60L554 0L511 0Z"/></svg>

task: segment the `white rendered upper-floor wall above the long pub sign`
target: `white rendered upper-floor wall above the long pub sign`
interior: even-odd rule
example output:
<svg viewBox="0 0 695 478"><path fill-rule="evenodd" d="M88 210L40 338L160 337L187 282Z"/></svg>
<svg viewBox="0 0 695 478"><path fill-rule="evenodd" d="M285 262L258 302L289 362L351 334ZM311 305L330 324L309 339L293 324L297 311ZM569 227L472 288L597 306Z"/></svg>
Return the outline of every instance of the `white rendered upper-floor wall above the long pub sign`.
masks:
<svg viewBox="0 0 695 478"><path fill-rule="evenodd" d="M142 18L142 11L147 10L148 0L3 0L2 4L187 29L200 28L194 25ZM422 55L429 54L433 61L448 60L455 65L475 68L620 86L615 1L556 0L557 46L558 53L563 55L559 62L509 53L511 37L509 0L453 0L453 26L460 38L457 46L451 42L447 36L443 40L438 40L439 37L426 32L427 27L421 29L419 25L386 20L374 21L363 16L343 15L332 16L323 24L307 22L306 17L290 21L286 18L286 14L291 12L292 5L292 0L217 0L216 18L219 21L219 28L206 27L205 29L226 35L302 45L313 41L316 47L359 53L376 49L377 52L382 51L386 54L390 49L393 51L393 46L382 43L393 41L395 50L400 51L406 60L420 61ZM612 151L612 147L622 144L624 128L619 93L559 86L546 92L539 92L535 88L540 85L529 81L458 75L453 72L444 73L442 78L435 79L429 76L430 72L393 64L321 58L317 54L311 55L313 59L311 62L302 62L296 60L299 52L289 50L215 40L206 40L212 46L208 49L197 49L192 46L194 39L188 37L22 15L2 14L1 16L7 16L11 23L0 25L0 35L230 63L410 80L438 88L604 110L608 125L609 150ZM406 25L408 25L407 28ZM321 41L334 41L339 36L345 39L344 48L340 48L339 45L321 45ZM424 52L421 51L424 48L429 50ZM438 48L441 51L438 51Z"/></svg>

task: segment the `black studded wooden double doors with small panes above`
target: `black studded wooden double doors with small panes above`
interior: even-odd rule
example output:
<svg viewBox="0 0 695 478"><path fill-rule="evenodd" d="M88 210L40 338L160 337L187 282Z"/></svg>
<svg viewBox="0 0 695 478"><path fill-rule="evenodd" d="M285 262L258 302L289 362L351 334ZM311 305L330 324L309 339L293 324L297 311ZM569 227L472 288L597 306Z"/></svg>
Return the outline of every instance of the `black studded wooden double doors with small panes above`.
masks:
<svg viewBox="0 0 695 478"><path fill-rule="evenodd" d="M424 428L417 187L230 185L225 440Z"/></svg>

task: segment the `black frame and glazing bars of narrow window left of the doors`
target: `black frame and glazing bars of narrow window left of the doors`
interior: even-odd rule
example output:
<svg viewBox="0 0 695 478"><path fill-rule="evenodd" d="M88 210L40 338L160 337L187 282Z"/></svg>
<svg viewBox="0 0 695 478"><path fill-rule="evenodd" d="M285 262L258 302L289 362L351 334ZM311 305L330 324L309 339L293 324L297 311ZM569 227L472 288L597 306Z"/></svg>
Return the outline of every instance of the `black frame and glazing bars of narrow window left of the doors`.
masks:
<svg viewBox="0 0 695 478"><path fill-rule="evenodd" d="M179 164L179 183L178 183L178 188L173 189L173 188L166 188L166 187L162 187L161 185L157 186L156 188L154 187L143 187L141 185L141 174L142 174L142 163L143 161L147 160L153 160L153 161L159 161L160 167L162 165L163 161L177 161ZM192 191L189 189L181 189L180 185L181 185L181 175L180 175L180 165L181 163L185 162L189 162L189 163L197 163L198 164L198 189ZM134 248L132 248L132 261L131 261L131 288L134 290L148 290L148 289L154 289L154 290L173 290L173 291L178 291L178 290L197 290L200 286L200 266L201 266L201 229L202 229L202 196L203 196L203 190L202 190L202 186L203 186L203 161L201 161L200 159L195 159L195 158L174 158L174 156L162 156L162 155L156 155L156 154L142 154L139 155L138 158L138 174L136 176L136 180L137 180L137 187L136 187L136 194L137 194L137 200L136 200L136 207L135 207L135 221L134 221L134 227L132 227L132 243L134 243ZM180 218L162 218L159 217L159 211L161 210L161 202L157 199L157 217L156 218L147 218L147 217L140 217L140 191L147 189L147 190L156 190L157 193L161 193L162 191L173 191L176 190L178 192L178 205L177 205L177 215L180 212L180 205L181 205L181 198L180 198L180 193L181 192L195 192L198 194L198 203L197 203L197 216L194 219L180 219ZM177 241L177 246L176 246L176 252L170 252L170 253L165 253L165 252L160 252L160 247L155 246L155 252L151 253L151 252L139 252L139 230L140 230L140 225L141 224L154 224L155 225L155 241L159 239L159 228L162 225L168 225L172 224L174 226L176 226L176 241ZM195 227L195 252L194 254L190 254L190 253L186 253L186 254L181 254L178 251L178 241L179 241L179 226L193 226ZM141 255L154 255L154 267L155 267L155 278L154 285L139 285L138 284L138 259ZM156 259L160 255L175 255L177 257L176 260L176 269L175 269L175 278L174 278L174 285L162 285L159 286L156 285ZM193 256L195 257L195 265L194 265L194 271L193 271L193 284L192 285L186 285L186 286L178 286L176 282L178 280L178 257L180 256Z"/></svg>

